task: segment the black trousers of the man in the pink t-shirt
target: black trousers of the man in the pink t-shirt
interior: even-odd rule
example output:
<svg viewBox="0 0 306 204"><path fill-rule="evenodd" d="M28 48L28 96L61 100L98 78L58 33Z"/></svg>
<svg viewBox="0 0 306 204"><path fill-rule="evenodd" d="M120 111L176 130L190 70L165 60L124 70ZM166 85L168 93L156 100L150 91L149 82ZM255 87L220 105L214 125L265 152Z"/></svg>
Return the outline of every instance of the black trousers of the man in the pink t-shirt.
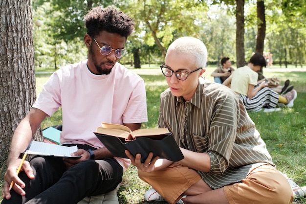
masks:
<svg viewBox="0 0 306 204"><path fill-rule="evenodd" d="M26 195L12 189L11 199L4 198L2 204L77 204L86 196L115 189L122 181L123 168L113 158L86 160L67 170L62 158L56 157L34 157L30 164L35 179L19 174Z"/></svg>

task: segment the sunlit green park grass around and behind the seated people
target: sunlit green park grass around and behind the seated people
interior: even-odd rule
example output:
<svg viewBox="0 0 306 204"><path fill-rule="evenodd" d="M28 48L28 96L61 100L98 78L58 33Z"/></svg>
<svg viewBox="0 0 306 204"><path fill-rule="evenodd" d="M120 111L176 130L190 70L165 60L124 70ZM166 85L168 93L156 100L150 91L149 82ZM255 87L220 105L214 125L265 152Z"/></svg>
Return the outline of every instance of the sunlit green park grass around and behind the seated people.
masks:
<svg viewBox="0 0 306 204"><path fill-rule="evenodd" d="M209 66L204 73L206 79L213 80L210 76L214 66ZM148 122L142 128L157 127L159 94L168 86L161 74L158 65L142 66L141 69L131 68L145 81L147 90ZM277 76L281 81L289 79L298 92L298 98L294 101L294 107L284 108L272 113L249 113L266 142L278 170L286 173L289 178L301 186L306 185L306 68L265 68L266 77ZM50 74L36 74L38 93L42 90L44 82ZM61 109L52 117L46 118L42 128L62 123ZM5 166L1 165L2 175ZM3 176L1 177L3 178ZM2 181L3 182L3 181ZM137 169L131 166L123 175L118 198L120 204L149 204L143 195L150 186L141 181L137 176ZM163 202L150 202L150 204L163 204ZM166 204L166 203L165 203ZM306 198L294 200L294 204L306 204Z"/></svg>

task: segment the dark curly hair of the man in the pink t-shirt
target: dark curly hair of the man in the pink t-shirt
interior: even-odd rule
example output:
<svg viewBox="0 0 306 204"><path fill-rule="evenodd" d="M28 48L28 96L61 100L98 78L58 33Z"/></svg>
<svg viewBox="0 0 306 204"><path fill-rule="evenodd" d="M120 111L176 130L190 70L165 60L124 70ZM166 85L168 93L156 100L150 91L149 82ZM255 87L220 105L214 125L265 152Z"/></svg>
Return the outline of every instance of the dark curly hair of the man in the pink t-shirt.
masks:
<svg viewBox="0 0 306 204"><path fill-rule="evenodd" d="M134 30L134 22L128 15L113 7L97 6L84 17L87 34L95 37L103 30L119 34L126 39Z"/></svg>

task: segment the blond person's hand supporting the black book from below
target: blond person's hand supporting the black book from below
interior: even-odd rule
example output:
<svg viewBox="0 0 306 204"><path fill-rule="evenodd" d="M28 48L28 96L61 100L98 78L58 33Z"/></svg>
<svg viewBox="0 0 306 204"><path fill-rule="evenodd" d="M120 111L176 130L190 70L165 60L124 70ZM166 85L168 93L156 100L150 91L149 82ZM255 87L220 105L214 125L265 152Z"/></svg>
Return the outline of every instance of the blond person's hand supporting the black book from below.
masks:
<svg viewBox="0 0 306 204"><path fill-rule="evenodd" d="M137 169L144 172L153 172L155 170L154 164L156 160L159 159L159 157L153 158L153 152L150 152L145 162L141 163L140 154L137 154L136 157L134 157L128 150L125 150L125 154L128 156L129 159L131 159L132 164L136 166Z"/></svg>

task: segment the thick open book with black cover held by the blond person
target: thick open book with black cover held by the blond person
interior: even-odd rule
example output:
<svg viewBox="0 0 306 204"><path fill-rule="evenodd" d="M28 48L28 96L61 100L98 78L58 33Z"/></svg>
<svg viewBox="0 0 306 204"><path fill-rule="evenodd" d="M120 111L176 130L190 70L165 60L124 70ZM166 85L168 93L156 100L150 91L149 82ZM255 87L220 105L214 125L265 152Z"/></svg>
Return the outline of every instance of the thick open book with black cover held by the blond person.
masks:
<svg viewBox="0 0 306 204"><path fill-rule="evenodd" d="M124 151L129 150L133 156L140 153L141 162L147 159L150 152L153 152L153 157L159 156L171 161L184 159L172 133L166 128L139 129L132 132L124 125L101 125L94 134L115 157L128 158Z"/></svg>

